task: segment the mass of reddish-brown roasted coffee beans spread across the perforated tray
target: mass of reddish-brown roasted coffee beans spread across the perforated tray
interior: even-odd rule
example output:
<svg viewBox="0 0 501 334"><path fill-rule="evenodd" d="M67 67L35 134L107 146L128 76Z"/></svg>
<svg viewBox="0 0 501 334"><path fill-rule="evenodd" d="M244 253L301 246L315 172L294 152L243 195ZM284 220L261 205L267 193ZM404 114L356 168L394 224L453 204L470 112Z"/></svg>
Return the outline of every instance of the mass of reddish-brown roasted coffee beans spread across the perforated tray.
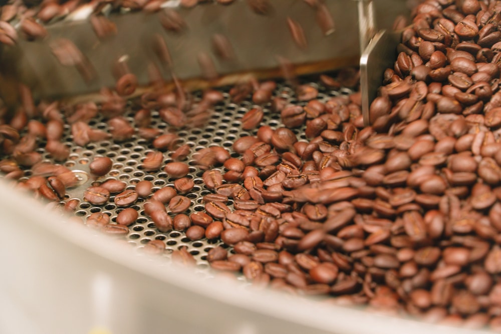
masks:
<svg viewBox="0 0 501 334"><path fill-rule="evenodd" d="M289 25L304 44L296 23ZM273 81L227 93L159 90L131 101L109 90L102 104L76 106L35 105L24 94L23 106L0 125L0 170L71 212L82 204L67 194L79 184L65 165L71 147L125 146L139 137L149 151L138 171L172 182L128 185L114 178L112 159L94 157L88 169L95 181L82 201L111 205L118 215L98 209L84 217L87 225L125 236L147 217L158 235L176 230L188 241L210 241L212 268L258 286L501 330L499 27L499 1L418 5L365 128L360 92L342 88L357 87L355 69L290 86L290 97ZM326 90L337 93L319 93ZM195 152L179 142L186 126L203 130L214 113L231 114L217 109L226 101L233 113L244 109L240 137L224 146L208 136ZM270 115L283 126L268 124ZM157 119L168 131L153 125ZM192 210L194 189L204 190L199 210ZM164 253L164 239L144 250ZM182 246L171 257L196 262Z"/></svg>

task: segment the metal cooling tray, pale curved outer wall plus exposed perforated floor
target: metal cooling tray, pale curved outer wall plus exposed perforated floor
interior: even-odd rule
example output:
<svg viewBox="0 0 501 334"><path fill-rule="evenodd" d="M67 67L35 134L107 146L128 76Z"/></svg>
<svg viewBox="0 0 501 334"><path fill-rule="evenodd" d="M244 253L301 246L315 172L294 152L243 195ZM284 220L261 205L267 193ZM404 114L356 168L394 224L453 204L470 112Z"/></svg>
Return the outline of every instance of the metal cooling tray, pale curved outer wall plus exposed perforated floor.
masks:
<svg viewBox="0 0 501 334"><path fill-rule="evenodd" d="M351 93L347 89L331 91L308 82L318 88L321 100ZM284 83L279 83L275 94L295 102L294 90ZM229 148L240 136L255 134L256 130L246 132L240 127L240 118L253 107L252 103L233 104L227 90L223 95L225 100L215 106L215 113L205 127L178 132L179 144L188 144L192 152L208 145ZM195 101L199 98L200 93L196 93ZM267 116L263 124L279 127L280 115L268 108L269 105L264 106ZM132 114L125 116L131 118ZM166 127L157 115L152 124L160 129ZM107 126L100 119L90 125L96 129ZM80 175L88 175L88 162L95 156L109 156L114 161L113 169L97 182L114 178L133 187L135 182L149 179L159 188L172 181L161 171L142 170L142 159L151 148L137 136L120 145L102 141L80 147L66 131L64 143L70 145L71 154L63 165ZM299 139L304 138L304 129L295 131ZM38 151L44 160L52 161L43 146L42 143ZM168 160L167 157L165 162ZM208 191L199 182L201 171L191 157L185 161L191 165L190 175L196 187L190 194L191 213ZM25 177L30 174L30 170L25 170ZM150 218L142 214L140 201L135 204L140 218L130 226L130 233L124 239L113 240L76 222L75 217L68 219L54 205L44 206L32 196L18 192L13 184L1 181L2 333L475 333L376 315L271 289L255 290L243 277L240 281L228 280L210 270L205 256L215 244L206 239L189 241L177 231L159 232ZM87 182L70 189L68 198L82 199L84 188L93 180L89 178ZM102 207L81 201L76 215L85 218L91 212L102 211L113 220L117 209L113 198ZM143 245L153 239L166 242L164 254L157 258L140 255ZM186 246L195 257L193 268L171 264L170 252L180 246Z"/></svg>

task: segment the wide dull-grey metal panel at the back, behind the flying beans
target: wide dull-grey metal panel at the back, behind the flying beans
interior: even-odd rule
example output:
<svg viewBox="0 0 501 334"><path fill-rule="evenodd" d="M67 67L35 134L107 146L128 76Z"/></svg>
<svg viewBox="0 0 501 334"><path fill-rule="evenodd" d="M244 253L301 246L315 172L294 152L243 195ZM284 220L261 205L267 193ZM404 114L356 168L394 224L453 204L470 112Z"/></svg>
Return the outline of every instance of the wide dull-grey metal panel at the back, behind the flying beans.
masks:
<svg viewBox="0 0 501 334"><path fill-rule="evenodd" d="M16 45L3 46L0 94L7 104L16 103L20 83L31 88L36 100L96 93L102 87L115 87L117 67L136 76L140 87L136 94L151 85L155 73L166 83L176 77L188 88L200 88L232 84L249 75L280 77L284 62L294 65L295 74L324 72L357 65L364 49L366 53L384 49L386 40L381 39L377 48L366 47L376 27L389 28L406 11L402 0L309 3L274 0L263 15L243 0L230 6L200 4L191 9L169 0L157 13L110 15L107 20L116 27L115 33L112 30L104 38L96 34L92 10L84 6L48 25L48 36L42 40L28 41L20 33ZM184 21L179 32L164 28L172 11ZM14 26L19 28L19 23ZM80 66L71 61L64 64L57 57L55 48L63 48L68 41L83 59ZM393 46L388 45L386 51L394 52ZM379 86L375 79L365 79L373 78L368 72L380 70L367 70L372 59L379 58L374 51L371 55L362 57L367 60L362 64L365 103L374 95L366 91Z"/></svg>

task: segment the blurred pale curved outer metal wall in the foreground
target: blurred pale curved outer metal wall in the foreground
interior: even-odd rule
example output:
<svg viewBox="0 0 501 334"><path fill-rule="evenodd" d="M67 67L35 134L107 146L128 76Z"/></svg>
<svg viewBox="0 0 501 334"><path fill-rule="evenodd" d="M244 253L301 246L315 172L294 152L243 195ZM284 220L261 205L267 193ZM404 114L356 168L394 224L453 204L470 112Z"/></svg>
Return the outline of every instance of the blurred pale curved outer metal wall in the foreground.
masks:
<svg viewBox="0 0 501 334"><path fill-rule="evenodd" d="M203 279L65 223L4 180L0 210L3 334L485 333Z"/></svg>

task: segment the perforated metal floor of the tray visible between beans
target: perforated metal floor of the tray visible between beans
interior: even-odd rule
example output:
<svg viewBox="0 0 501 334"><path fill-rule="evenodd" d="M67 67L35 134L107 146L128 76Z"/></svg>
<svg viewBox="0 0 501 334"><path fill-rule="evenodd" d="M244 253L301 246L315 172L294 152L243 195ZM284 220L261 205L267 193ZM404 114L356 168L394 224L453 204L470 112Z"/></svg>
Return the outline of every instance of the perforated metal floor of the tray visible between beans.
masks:
<svg viewBox="0 0 501 334"><path fill-rule="evenodd" d="M322 102L326 102L329 98L337 96L340 94L351 94L350 89L343 88L339 91L330 90L324 87L322 84L317 82L312 82L308 79L303 79L304 84L309 84L314 86L319 90L318 99ZM244 131L241 129L241 117L250 109L254 108L256 105L252 101L243 101L239 104L232 103L228 94L229 88L222 88L224 100L218 103L211 113L210 119L208 120L206 126L202 128L194 128L186 126L182 129L175 129L170 127L168 124L163 122L158 115L157 111L152 112L152 122L151 127L160 129L168 133L175 133L178 136L177 144L184 145L187 144L191 148L190 154L184 158L182 161L187 163L189 167L188 178L193 179L194 188L186 195L191 200L190 208L185 212L190 215L193 212L203 211L204 206L202 204L202 198L204 195L211 193L203 185L202 174L203 171L196 166L196 162L193 159L193 154L203 148L210 146L221 146L227 149L232 157L238 158L240 155L232 150L232 145L235 140L244 136L254 136L257 133L257 129L251 131ZM285 83L279 83L277 89L274 92L274 96L281 96L286 98L289 103L306 105L306 102L298 102L295 97L293 88ZM194 101L197 103L201 99L201 92L193 93ZM271 104L263 106L265 111L265 117L263 119L262 125L269 125L272 128L277 128L283 126L280 120L280 113L273 112ZM129 104L128 111L124 114L125 118L134 124L134 111ZM189 122L188 122L189 124ZM89 125L98 130L107 131L108 124L106 120L102 117L98 117L90 121ZM300 129L293 129L297 134L299 140L306 140L304 134L304 127ZM142 139L136 131L136 134L131 140L126 142L117 143L113 140L105 140L101 142L89 143L85 147L81 147L75 144L71 135L71 129L69 125L65 125L65 133L62 139L64 145L70 149L70 155L68 160L61 162L61 164L70 170L76 172L81 178L82 182L79 186L74 188L69 188L67 190L67 199L78 199L80 204L78 205L75 215L81 217L84 221L86 218L94 212L104 212L108 214L111 221L114 222L118 213L122 210L114 203L114 195L110 196L108 202L104 205L92 205L91 203L84 200L84 191L91 185L99 185L107 180L115 179L124 181L127 183L126 189L133 189L135 184L142 180L151 181L154 185L152 192L165 187L172 186L174 179L169 178L167 173L163 171L163 166L165 163L173 161L170 158L172 151L164 152L164 162L162 167L158 171L147 172L144 170L142 161L149 152L157 151L153 146L151 141ZM45 142L39 143L40 148L37 149L39 153L43 155L43 162L55 163L51 155L47 153L44 149ZM95 178L91 175L89 171L89 163L95 157L106 156L112 159L113 167L111 171L103 177ZM216 166L221 173L224 173L222 165ZM25 181L33 174L30 169L25 170L25 176L20 178L20 182ZM129 233L126 236L126 240L135 245L140 249L144 244L148 243L153 239L164 240L167 244L164 257L169 258L170 253L174 249L178 249L181 246L186 246L187 250L194 256L197 261L197 268L201 271L206 271L208 268L208 262L206 261L207 251L212 247L222 244L220 241L202 239L199 241L190 241L184 234L180 231L171 231L168 233L159 232L155 228L155 224L151 218L145 213L143 209L143 204L145 199L139 198L134 205L131 207L139 212L139 217L133 225L129 226ZM61 202L64 205L64 201ZM230 208L232 208L232 201L229 200L228 203ZM171 214L172 217L174 216ZM225 246L225 245L223 245Z"/></svg>

